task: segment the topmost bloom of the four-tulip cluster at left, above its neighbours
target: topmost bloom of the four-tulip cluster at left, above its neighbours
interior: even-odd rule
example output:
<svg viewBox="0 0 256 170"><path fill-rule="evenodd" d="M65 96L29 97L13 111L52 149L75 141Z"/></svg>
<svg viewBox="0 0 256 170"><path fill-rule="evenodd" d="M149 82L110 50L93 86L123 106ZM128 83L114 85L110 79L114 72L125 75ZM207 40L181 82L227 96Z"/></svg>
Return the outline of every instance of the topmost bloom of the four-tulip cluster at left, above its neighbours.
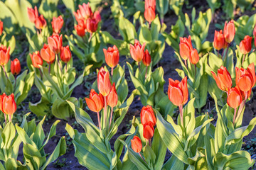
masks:
<svg viewBox="0 0 256 170"><path fill-rule="evenodd" d="M48 45L50 47L50 50L55 52L55 54L58 54L61 50L61 47L63 45L62 35L51 35L48 37Z"/></svg>

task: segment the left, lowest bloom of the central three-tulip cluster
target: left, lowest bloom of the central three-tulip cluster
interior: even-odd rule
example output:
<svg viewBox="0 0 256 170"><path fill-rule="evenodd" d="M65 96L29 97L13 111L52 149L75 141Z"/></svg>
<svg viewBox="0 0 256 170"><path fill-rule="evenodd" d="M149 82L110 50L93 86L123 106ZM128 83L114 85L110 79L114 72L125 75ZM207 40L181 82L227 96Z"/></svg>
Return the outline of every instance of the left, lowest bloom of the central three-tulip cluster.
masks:
<svg viewBox="0 0 256 170"><path fill-rule="evenodd" d="M97 94L94 89L90 91L90 98L85 98L88 108L93 112L99 112L104 105L104 98L102 94Z"/></svg>

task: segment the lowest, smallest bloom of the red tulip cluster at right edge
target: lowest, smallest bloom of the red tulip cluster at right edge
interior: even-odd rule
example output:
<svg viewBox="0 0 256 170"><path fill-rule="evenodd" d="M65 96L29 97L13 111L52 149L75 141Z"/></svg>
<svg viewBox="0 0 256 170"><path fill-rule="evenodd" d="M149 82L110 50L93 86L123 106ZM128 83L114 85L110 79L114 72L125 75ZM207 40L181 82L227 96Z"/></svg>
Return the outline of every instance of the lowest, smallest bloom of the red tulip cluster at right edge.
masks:
<svg viewBox="0 0 256 170"><path fill-rule="evenodd" d="M233 87L228 90L227 103L231 108L238 108L238 106L240 106L242 103L242 96L238 87Z"/></svg>

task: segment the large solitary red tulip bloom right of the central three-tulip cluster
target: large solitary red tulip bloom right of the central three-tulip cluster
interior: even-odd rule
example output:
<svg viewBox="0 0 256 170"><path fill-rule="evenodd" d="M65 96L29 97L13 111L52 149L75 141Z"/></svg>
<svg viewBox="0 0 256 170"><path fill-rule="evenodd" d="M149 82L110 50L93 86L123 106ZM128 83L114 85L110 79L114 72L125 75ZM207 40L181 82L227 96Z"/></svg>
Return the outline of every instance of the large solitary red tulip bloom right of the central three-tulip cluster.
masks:
<svg viewBox="0 0 256 170"><path fill-rule="evenodd" d="M182 81L169 79L168 96L175 106L183 106L188 101L187 77Z"/></svg>

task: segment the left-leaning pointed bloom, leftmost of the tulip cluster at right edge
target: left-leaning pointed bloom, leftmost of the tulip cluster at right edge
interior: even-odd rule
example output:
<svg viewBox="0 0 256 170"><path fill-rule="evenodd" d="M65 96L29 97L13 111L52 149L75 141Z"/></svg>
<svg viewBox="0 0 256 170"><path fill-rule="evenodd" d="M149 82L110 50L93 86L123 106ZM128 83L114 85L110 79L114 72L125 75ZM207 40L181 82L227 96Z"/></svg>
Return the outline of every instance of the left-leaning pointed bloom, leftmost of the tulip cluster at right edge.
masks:
<svg viewBox="0 0 256 170"><path fill-rule="evenodd" d="M213 74L213 78L215 79L216 84L220 90L228 91L228 89L231 88L232 79L226 67L221 66L220 69L218 69L217 75L215 72L211 73Z"/></svg>

